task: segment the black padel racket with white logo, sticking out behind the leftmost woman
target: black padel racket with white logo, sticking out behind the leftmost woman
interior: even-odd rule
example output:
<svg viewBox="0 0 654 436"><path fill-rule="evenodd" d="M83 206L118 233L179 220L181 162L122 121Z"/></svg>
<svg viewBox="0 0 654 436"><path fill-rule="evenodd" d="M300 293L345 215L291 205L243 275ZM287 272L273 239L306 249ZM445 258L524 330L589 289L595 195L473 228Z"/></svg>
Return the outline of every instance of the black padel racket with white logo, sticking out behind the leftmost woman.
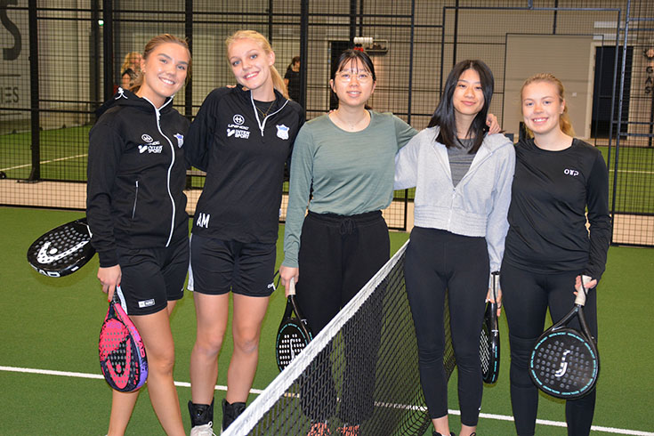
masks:
<svg viewBox="0 0 654 436"><path fill-rule="evenodd" d="M68 276L95 254L90 242L91 230L86 218L68 222L36 239L28 248L28 262L44 276Z"/></svg>

